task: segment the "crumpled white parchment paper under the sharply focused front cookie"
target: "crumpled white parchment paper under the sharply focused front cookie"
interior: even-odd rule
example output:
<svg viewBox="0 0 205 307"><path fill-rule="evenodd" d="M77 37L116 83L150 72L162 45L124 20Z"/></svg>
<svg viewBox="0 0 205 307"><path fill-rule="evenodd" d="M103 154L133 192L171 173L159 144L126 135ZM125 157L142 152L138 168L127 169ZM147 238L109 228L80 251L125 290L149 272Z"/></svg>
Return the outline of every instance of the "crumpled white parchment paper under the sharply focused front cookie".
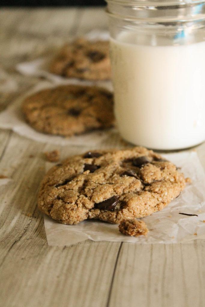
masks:
<svg viewBox="0 0 205 307"><path fill-rule="evenodd" d="M147 237L122 235L118 231L118 225L98 220L63 225L45 216L48 244L69 246L87 239L132 243L187 243L205 239L205 174L197 153L191 151L163 156L181 167L185 177L191 177L192 183L188 183L180 196L166 208L142 219L150 230ZM198 216L180 215L179 212Z"/></svg>

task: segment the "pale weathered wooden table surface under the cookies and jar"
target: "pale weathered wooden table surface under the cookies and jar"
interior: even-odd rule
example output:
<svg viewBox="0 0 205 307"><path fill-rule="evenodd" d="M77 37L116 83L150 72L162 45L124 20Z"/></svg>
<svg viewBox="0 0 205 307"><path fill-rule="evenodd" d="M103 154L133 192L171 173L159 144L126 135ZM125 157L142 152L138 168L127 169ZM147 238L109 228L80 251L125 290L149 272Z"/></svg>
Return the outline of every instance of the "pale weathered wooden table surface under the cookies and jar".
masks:
<svg viewBox="0 0 205 307"><path fill-rule="evenodd" d="M108 28L103 8L2 8L0 67L18 88L0 93L0 110L39 82L16 72L16 64L47 55L95 28ZM43 152L56 147L0 131L0 174L11 178L0 186L0 306L205 306L204 240L189 244L87 240L70 247L48 246L37 191L45 173ZM59 147L62 159L92 149ZM101 144L104 147L113 147L112 142ZM205 167L205 144L196 150Z"/></svg>

